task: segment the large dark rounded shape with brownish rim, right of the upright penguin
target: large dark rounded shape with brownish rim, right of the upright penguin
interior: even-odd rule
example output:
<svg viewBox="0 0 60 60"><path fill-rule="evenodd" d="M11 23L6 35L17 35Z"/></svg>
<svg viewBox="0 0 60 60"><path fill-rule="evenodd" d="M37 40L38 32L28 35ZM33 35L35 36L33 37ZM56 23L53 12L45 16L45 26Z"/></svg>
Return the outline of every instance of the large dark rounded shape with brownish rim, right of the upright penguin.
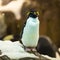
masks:
<svg viewBox="0 0 60 60"><path fill-rule="evenodd" d="M56 53L59 55L57 46L51 41L48 36L40 36L36 50L38 53L56 58Z"/></svg>

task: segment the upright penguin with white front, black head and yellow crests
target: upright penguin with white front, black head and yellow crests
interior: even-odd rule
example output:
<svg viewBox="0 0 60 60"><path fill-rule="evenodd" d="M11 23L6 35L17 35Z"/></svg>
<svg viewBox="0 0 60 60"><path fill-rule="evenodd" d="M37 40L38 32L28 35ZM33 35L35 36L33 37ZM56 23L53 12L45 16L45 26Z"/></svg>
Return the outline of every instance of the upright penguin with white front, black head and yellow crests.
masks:
<svg viewBox="0 0 60 60"><path fill-rule="evenodd" d="M39 39L39 19L38 12L31 10L28 12L27 21L20 34L21 42L25 47L33 48L37 46Z"/></svg>

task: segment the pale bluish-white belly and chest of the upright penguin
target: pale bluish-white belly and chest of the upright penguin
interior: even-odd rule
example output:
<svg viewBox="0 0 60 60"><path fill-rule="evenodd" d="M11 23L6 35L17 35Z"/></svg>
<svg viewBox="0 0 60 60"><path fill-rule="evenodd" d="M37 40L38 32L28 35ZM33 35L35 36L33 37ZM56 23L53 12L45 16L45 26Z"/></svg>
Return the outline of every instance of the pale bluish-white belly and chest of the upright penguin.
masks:
<svg viewBox="0 0 60 60"><path fill-rule="evenodd" d="M23 30L22 42L26 47L36 47L39 39L39 20L29 18Z"/></svg>

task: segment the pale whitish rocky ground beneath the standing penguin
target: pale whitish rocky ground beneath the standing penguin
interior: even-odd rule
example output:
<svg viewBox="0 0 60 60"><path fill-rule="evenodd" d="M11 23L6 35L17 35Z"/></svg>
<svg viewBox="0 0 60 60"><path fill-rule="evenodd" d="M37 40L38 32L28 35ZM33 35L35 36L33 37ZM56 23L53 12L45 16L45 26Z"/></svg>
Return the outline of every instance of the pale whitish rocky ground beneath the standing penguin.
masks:
<svg viewBox="0 0 60 60"><path fill-rule="evenodd" d="M26 52L18 41L0 41L0 60L60 60L60 57L52 58L36 51L35 54Z"/></svg>

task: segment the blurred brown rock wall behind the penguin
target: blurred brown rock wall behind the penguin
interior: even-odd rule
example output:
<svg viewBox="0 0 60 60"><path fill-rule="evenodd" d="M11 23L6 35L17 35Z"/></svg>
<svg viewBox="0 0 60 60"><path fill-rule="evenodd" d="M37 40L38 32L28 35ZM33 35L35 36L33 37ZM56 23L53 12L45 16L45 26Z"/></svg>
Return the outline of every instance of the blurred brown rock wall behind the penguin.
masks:
<svg viewBox="0 0 60 60"><path fill-rule="evenodd" d="M2 5L10 1L12 0L2 0ZM39 11L39 34L49 36L57 47L60 47L60 0L26 0L22 6L20 20L16 20L11 12L1 14L0 35L2 37L10 34L19 35L30 9Z"/></svg>

